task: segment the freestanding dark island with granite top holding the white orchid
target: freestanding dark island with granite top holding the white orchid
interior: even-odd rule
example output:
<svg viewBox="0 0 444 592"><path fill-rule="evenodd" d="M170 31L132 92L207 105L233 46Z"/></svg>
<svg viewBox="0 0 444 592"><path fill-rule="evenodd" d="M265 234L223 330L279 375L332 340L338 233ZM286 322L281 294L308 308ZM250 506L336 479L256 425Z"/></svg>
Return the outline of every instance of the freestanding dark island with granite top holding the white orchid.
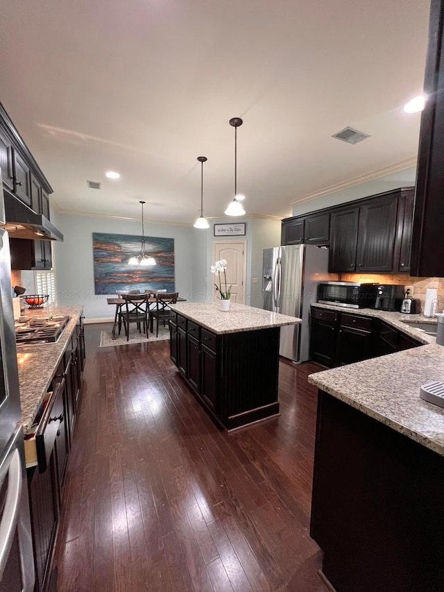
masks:
<svg viewBox="0 0 444 592"><path fill-rule="evenodd" d="M235 303L171 310L171 360L216 423L233 430L279 413L280 327L301 319Z"/></svg>

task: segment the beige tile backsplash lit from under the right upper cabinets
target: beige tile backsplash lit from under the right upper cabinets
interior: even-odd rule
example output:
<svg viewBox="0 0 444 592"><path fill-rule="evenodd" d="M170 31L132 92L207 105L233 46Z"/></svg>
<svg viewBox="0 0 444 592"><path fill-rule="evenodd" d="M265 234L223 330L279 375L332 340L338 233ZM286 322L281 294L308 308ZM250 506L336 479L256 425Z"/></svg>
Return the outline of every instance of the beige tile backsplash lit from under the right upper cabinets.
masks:
<svg viewBox="0 0 444 592"><path fill-rule="evenodd" d="M407 273L395 273L376 275L372 273L341 273L341 282L377 282L381 284L400 284L413 287L413 298L421 301L422 312L425 304L425 291L427 288L438 290L438 312L444 311L444 278L412 278Z"/></svg>

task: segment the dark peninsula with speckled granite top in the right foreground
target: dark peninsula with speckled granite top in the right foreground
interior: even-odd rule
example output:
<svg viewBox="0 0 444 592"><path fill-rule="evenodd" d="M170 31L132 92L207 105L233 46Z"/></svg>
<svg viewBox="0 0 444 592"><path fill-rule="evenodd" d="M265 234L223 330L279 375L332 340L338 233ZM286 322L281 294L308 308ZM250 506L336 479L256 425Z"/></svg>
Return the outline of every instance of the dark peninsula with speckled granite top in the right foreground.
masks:
<svg viewBox="0 0 444 592"><path fill-rule="evenodd" d="M309 376L319 389L310 534L341 592L444 589L444 409L419 397L444 381L444 347L421 339Z"/></svg>

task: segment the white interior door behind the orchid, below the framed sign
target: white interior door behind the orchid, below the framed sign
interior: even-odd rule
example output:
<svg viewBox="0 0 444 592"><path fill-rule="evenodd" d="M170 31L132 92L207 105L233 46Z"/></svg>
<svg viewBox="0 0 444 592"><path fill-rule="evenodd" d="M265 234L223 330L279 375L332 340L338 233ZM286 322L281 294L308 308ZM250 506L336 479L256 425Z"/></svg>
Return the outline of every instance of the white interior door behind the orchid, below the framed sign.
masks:
<svg viewBox="0 0 444 592"><path fill-rule="evenodd" d="M245 304L246 241L214 241L212 264L221 259L227 260L227 287L232 286L232 301ZM212 275L212 280L219 285L219 278L217 276ZM223 276L221 280L223 280ZM225 286L223 286L222 291L225 291ZM213 295L215 298L216 289L214 286Z"/></svg>

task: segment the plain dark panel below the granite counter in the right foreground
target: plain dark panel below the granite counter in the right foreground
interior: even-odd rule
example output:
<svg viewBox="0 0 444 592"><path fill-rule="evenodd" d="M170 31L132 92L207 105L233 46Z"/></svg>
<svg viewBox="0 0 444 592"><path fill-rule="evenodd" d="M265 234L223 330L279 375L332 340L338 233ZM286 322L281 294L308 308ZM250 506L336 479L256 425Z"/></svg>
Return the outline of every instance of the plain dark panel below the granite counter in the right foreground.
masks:
<svg viewBox="0 0 444 592"><path fill-rule="evenodd" d="M310 535L341 592L444 590L444 457L319 391Z"/></svg>

